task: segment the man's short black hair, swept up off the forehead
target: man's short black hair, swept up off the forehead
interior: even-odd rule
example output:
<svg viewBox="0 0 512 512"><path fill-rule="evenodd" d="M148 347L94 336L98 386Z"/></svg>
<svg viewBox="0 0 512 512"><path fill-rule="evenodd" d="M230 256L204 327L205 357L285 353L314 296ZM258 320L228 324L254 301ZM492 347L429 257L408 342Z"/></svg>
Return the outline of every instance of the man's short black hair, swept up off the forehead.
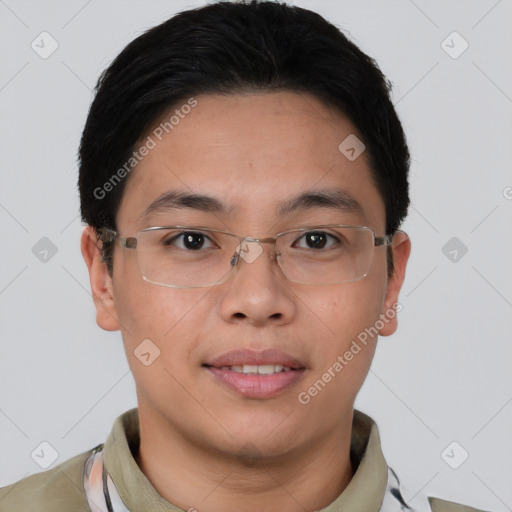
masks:
<svg viewBox="0 0 512 512"><path fill-rule="evenodd" d="M170 108L200 94L273 91L309 93L351 121L393 234L409 206L410 156L391 83L319 14L259 0L183 11L133 40L101 74L79 149L82 220L98 233L116 230L126 164ZM104 241L109 271L111 249Z"/></svg>

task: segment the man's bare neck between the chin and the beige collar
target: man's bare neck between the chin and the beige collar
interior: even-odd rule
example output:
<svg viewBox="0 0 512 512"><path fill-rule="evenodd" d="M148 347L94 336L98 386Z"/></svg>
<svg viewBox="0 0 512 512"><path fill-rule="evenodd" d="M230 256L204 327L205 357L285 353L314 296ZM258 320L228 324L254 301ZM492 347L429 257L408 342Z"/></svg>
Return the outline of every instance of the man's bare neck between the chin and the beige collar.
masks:
<svg viewBox="0 0 512 512"><path fill-rule="evenodd" d="M304 512L325 508L353 477L352 414L321 440L267 457L250 445L243 455L208 449L139 407L136 461L157 492L187 511Z"/></svg>

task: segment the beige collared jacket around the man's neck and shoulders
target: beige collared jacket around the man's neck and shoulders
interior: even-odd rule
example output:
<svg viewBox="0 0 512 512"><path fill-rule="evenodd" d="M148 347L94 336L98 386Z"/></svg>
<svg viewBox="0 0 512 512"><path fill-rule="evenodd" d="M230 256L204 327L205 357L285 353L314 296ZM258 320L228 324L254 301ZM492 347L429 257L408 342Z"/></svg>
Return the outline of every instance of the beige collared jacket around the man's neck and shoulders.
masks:
<svg viewBox="0 0 512 512"><path fill-rule="evenodd" d="M139 419L137 409L132 409L115 420L103 446L105 470L126 509L183 512L162 498L139 469L134 459L138 446ZM84 463L92 451L3 487L0 512L90 512L84 492ZM320 512L482 512L426 497L423 502L416 498L415 507L402 508L399 484L382 454L377 426L359 411L354 413L351 457L357 465L354 477L340 496Z"/></svg>

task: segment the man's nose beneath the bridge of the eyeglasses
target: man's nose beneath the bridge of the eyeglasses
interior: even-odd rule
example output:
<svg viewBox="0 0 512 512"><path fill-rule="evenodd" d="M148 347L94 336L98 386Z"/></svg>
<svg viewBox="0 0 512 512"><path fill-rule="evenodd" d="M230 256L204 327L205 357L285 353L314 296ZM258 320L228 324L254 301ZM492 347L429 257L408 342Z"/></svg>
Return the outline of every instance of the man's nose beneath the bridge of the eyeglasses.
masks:
<svg viewBox="0 0 512 512"><path fill-rule="evenodd" d="M228 322L286 324L296 313L294 294L283 276L274 245L246 238L231 258L234 275L221 285L221 315Z"/></svg>

